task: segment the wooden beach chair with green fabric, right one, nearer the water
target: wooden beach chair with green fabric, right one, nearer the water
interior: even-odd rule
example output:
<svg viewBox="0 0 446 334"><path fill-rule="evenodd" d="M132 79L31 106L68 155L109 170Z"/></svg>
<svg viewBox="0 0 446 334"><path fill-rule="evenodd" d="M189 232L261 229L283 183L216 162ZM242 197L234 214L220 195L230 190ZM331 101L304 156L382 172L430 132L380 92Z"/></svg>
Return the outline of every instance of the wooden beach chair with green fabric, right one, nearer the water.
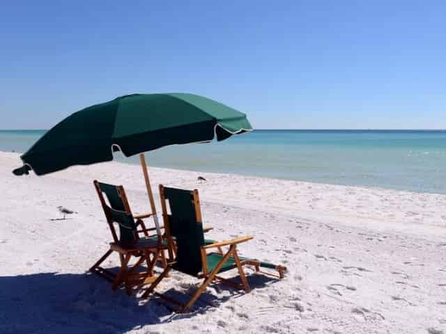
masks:
<svg viewBox="0 0 446 334"><path fill-rule="evenodd" d="M231 285L249 292L249 283L243 271L244 265L252 265L256 271L260 267L270 267L279 272L273 276L283 278L286 267L275 266L257 260L242 258L238 256L237 245L253 239L252 236L238 237L236 239L205 244L203 236L203 225L201 219L201 209L199 194L197 189L187 191L183 189L167 188L160 185L160 198L162 205L162 216L164 220L164 229L167 235L167 244L169 249L169 263L167 268L157 277L150 287L142 295L147 298L154 292L155 287L165 278L171 269L186 273L190 276L203 279L203 283L197 289L187 303L180 303L175 299L154 292L160 298L176 305L176 312L187 312L197 301L206 287L213 281L219 280L224 284ZM167 205L170 207L170 214L167 211ZM174 258L174 237L176 239L176 257ZM229 250L222 253L207 253L208 250L229 246ZM238 269L241 283L228 280L217 276L218 273ZM268 273L268 272L266 272Z"/></svg>

